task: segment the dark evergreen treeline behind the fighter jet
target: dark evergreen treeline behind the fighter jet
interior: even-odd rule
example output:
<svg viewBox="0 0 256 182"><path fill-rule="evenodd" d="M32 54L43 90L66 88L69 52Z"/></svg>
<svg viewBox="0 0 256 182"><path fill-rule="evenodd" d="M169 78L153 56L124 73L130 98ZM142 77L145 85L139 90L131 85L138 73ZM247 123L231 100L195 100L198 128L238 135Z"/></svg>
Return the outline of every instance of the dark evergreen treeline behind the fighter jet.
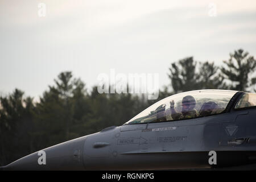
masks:
<svg viewBox="0 0 256 182"><path fill-rule="evenodd" d="M15 89L0 97L0 166L57 143L119 126L143 109L171 94L196 89L233 89L255 92L256 60L238 49L221 67L193 57L170 66L171 84L159 91L158 100L132 94L88 93L72 72L62 72L39 102ZM168 90L172 90L171 92Z"/></svg>

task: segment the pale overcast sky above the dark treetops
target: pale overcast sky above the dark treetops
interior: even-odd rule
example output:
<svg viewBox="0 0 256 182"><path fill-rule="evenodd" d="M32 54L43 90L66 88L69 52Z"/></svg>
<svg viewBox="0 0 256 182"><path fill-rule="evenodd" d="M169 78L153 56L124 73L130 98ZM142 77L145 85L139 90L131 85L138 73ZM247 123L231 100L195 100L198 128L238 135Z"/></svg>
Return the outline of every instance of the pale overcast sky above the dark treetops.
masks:
<svg viewBox="0 0 256 182"><path fill-rule="evenodd" d="M161 88L184 57L220 65L239 48L255 57L256 1L1 0L0 40L0 94L41 96L61 71L90 90L112 68L159 73Z"/></svg>

